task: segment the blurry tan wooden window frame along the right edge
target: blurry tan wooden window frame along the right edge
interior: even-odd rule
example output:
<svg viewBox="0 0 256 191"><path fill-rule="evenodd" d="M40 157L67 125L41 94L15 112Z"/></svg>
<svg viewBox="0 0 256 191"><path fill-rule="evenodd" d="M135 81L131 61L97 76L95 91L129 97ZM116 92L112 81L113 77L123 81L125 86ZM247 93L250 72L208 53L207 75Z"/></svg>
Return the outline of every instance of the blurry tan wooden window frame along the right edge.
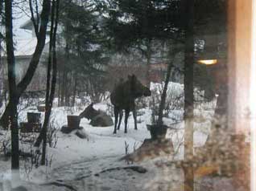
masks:
<svg viewBox="0 0 256 191"><path fill-rule="evenodd" d="M228 120L229 130L235 134L250 131L251 39L253 0L228 1ZM242 172L234 181L250 190L250 152L241 149ZM240 185L240 184L239 184Z"/></svg>

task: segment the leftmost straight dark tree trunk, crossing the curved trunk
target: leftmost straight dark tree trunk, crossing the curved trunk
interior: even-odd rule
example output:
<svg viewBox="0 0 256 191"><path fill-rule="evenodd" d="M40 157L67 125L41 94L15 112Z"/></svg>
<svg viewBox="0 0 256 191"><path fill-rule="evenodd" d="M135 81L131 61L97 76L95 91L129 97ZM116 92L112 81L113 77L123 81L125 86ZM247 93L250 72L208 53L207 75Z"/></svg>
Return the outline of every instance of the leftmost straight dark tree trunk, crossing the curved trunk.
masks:
<svg viewBox="0 0 256 191"><path fill-rule="evenodd" d="M14 59L14 41L13 41L13 24L12 24L12 1L5 0L5 25L6 25L6 51L7 51L7 67L8 67L8 83L9 83L9 108L11 131L11 169L12 173L19 174L19 128L18 128L18 112L17 104L19 103L17 96L16 75L15 75L15 59ZM16 172L14 172L16 171ZM18 171L18 172L17 172Z"/></svg>

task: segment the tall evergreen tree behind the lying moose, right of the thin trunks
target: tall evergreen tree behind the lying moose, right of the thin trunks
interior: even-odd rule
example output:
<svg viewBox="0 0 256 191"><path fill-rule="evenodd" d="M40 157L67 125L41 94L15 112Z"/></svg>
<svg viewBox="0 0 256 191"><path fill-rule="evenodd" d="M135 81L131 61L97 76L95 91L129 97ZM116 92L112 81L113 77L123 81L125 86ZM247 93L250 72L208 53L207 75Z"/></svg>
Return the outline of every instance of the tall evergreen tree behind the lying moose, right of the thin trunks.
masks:
<svg viewBox="0 0 256 191"><path fill-rule="evenodd" d="M102 75L108 63L107 41L101 29L101 18L90 2L62 2L60 14L62 25L64 58L59 67L60 105L70 104L70 96L66 90L67 83L73 88L73 100L76 91L85 90L83 84L94 83ZM90 80L92 79L93 80ZM100 82L102 83L102 82ZM96 84L94 84L96 85ZM87 86L88 87L88 86ZM95 86L93 86L95 87ZM79 90L80 89L80 90Z"/></svg>

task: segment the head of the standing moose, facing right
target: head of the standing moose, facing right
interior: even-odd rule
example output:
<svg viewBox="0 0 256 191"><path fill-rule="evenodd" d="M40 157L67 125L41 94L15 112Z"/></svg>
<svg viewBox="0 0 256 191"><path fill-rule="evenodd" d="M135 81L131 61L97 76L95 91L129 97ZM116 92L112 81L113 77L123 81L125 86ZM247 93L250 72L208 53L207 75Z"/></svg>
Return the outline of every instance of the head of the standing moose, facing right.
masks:
<svg viewBox="0 0 256 191"><path fill-rule="evenodd" d="M151 90L142 85L142 83L137 79L135 75L128 75L128 81L130 82L130 91L134 98L138 98L141 96L150 96Z"/></svg>

